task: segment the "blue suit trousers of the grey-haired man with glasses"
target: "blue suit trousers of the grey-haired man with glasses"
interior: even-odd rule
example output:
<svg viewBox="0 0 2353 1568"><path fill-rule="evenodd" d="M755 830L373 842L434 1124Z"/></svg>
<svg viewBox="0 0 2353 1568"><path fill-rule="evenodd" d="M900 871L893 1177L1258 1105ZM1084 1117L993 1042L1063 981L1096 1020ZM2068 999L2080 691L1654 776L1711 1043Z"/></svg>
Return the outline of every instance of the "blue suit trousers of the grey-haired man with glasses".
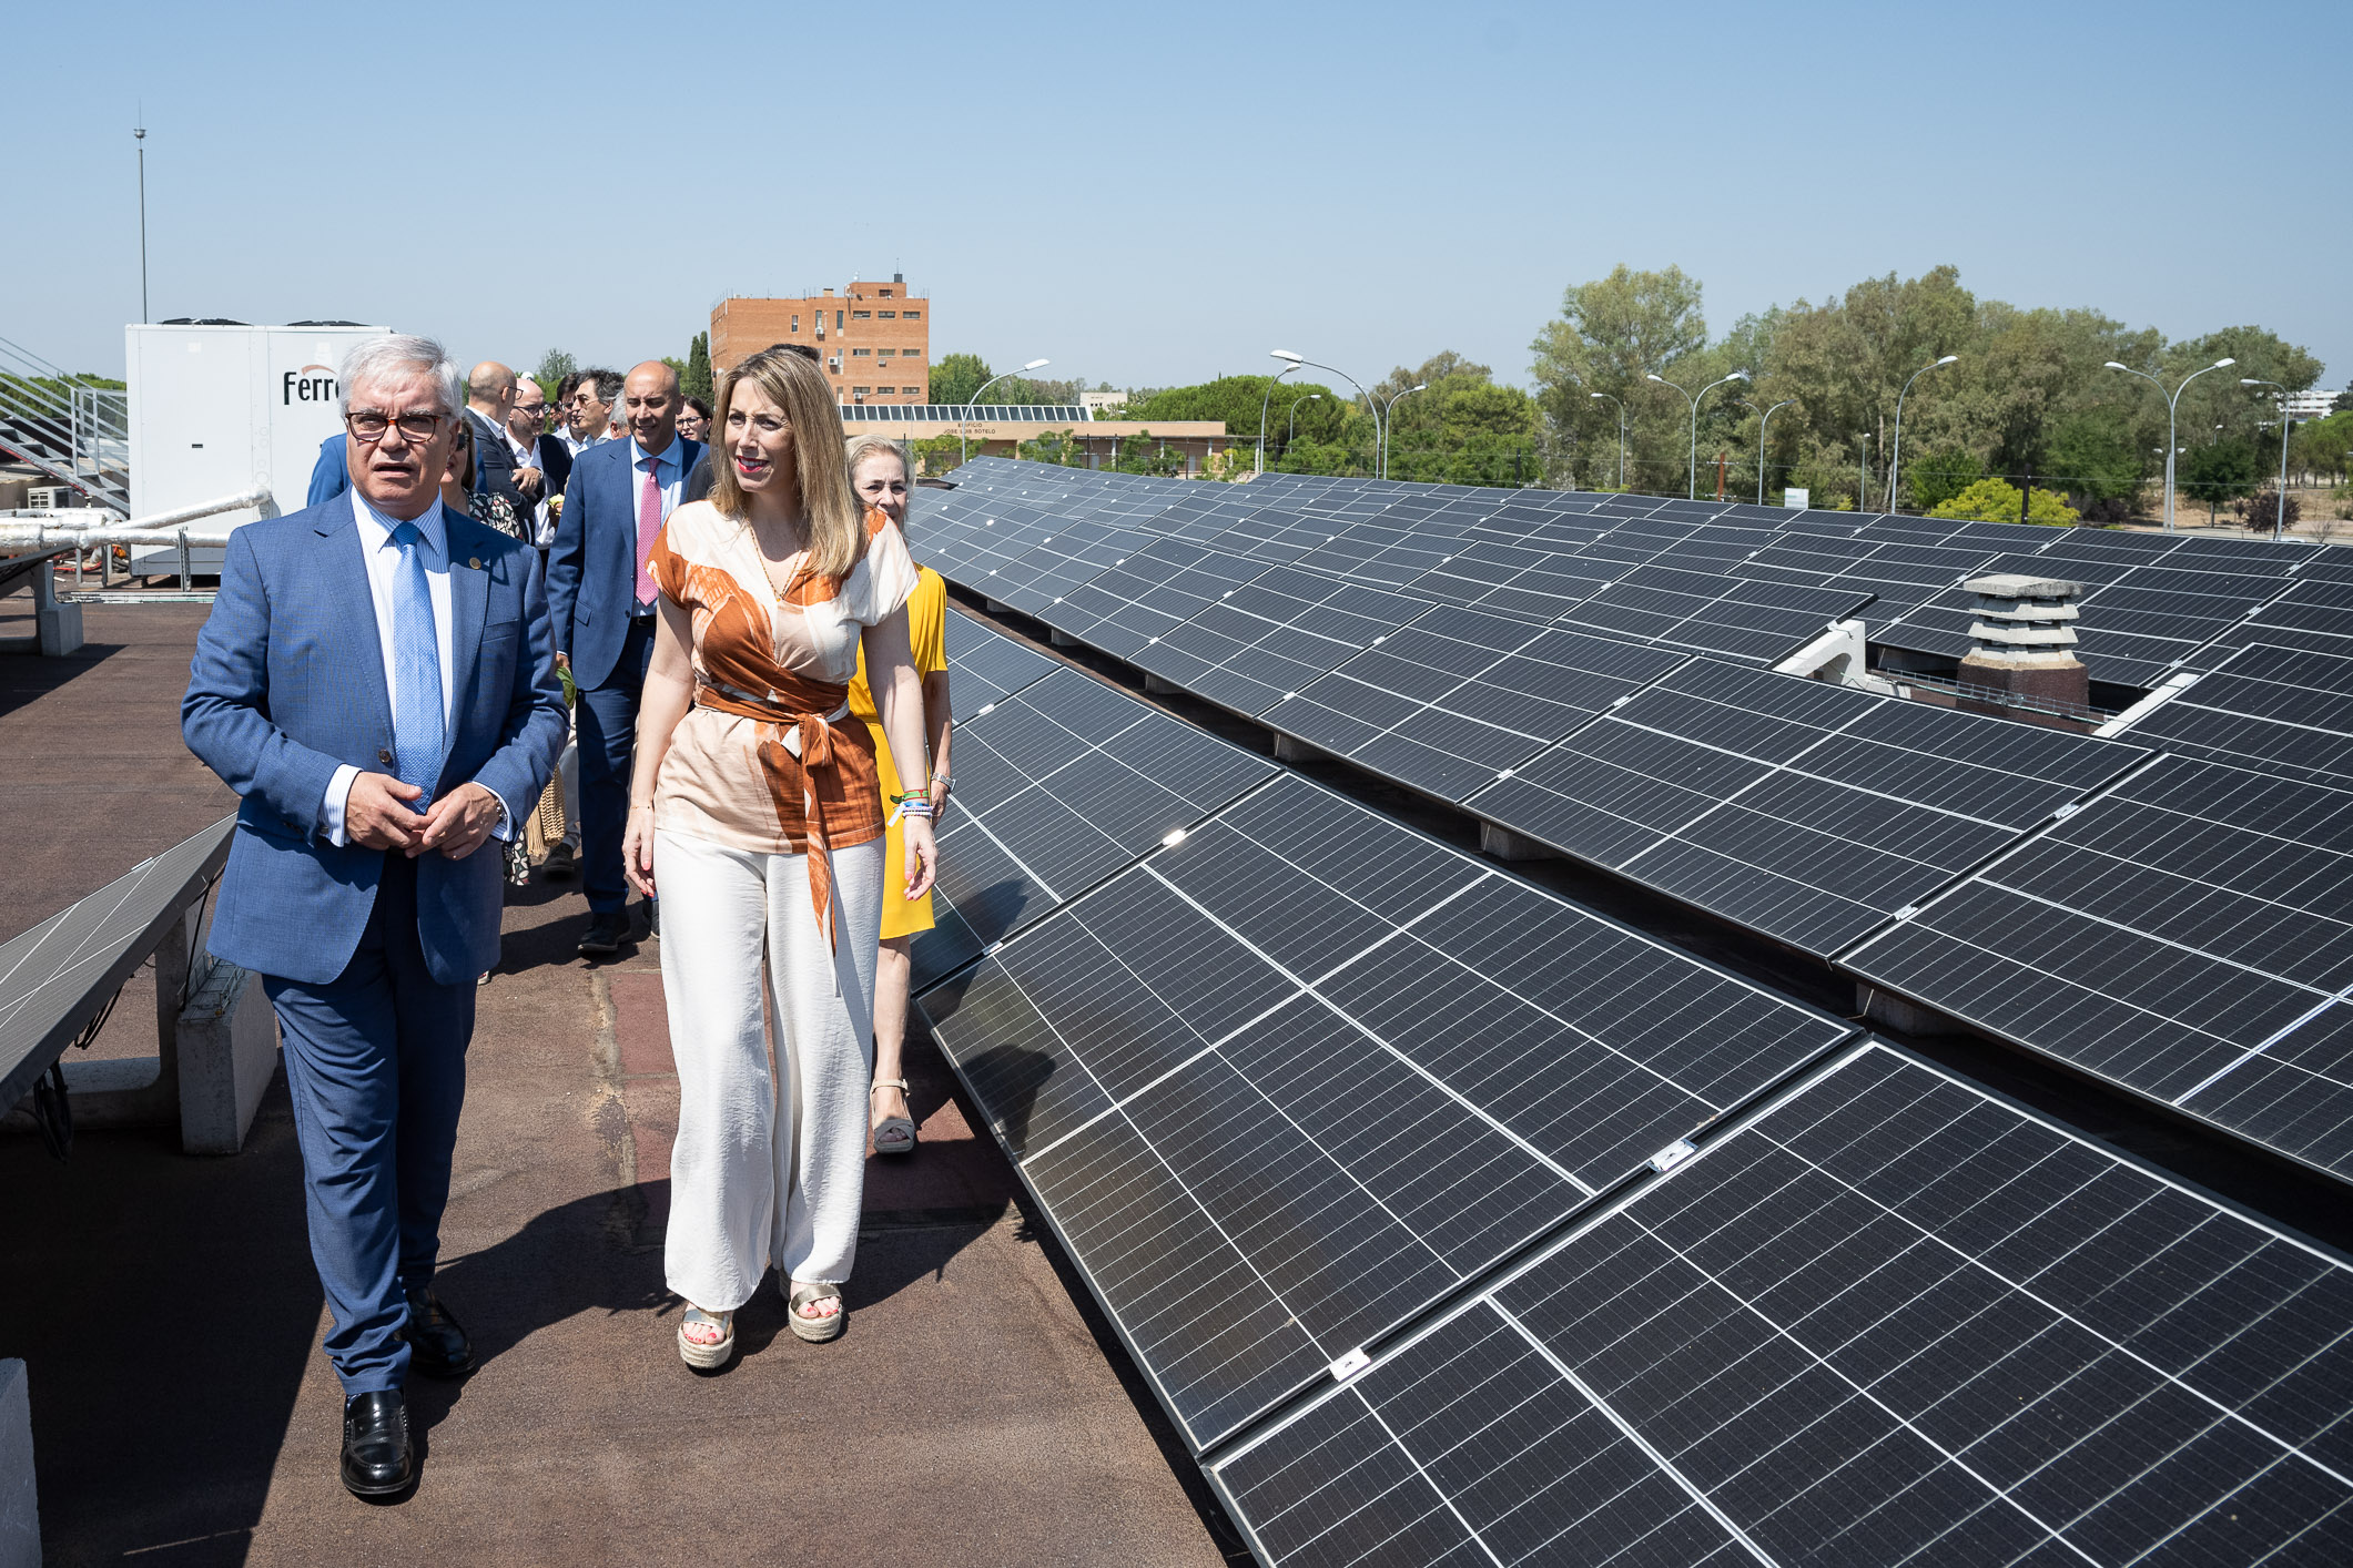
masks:
<svg viewBox="0 0 2353 1568"><path fill-rule="evenodd" d="M475 853L496 853L496 844ZM301 1138L311 1258L346 1394L407 1382L407 1291L433 1281L466 1100L473 976L440 985L416 943L416 863L384 856L360 950L327 985L266 978Z"/></svg>

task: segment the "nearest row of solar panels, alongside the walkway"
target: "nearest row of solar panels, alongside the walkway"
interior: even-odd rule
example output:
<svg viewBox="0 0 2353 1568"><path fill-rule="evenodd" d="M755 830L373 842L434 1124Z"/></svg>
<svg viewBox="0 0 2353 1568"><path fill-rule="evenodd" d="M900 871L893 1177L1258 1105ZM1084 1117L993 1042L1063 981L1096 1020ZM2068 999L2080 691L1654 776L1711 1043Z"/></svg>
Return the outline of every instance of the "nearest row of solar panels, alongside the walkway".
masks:
<svg viewBox="0 0 2353 1568"><path fill-rule="evenodd" d="M1115 842L920 1006L1264 1563L2353 1552L2344 1260L986 628L951 663L948 832ZM1885 745L1859 701L1786 722Z"/></svg>

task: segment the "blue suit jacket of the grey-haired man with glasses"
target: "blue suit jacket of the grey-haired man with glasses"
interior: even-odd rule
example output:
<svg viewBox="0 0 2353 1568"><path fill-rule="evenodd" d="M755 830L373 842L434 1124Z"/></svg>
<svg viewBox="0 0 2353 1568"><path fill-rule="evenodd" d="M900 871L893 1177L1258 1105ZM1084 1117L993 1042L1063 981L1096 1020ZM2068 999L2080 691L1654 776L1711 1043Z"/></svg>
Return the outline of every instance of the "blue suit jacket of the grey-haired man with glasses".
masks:
<svg viewBox="0 0 2353 1568"><path fill-rule="evenodd" d="M539 804L565 745L536 550L449 508L442 529L456 679L433 799L475 780L520 818ZM327 842L322 811L339 764L386 773L393 757L360 548L341 496L233 531L179 708L188 750L240 797L209 947L306 985L351 964L388 853ZM471 983L499 961L501 882L489 844L464 860L419 856L416 938L435 980Z"/></svg>

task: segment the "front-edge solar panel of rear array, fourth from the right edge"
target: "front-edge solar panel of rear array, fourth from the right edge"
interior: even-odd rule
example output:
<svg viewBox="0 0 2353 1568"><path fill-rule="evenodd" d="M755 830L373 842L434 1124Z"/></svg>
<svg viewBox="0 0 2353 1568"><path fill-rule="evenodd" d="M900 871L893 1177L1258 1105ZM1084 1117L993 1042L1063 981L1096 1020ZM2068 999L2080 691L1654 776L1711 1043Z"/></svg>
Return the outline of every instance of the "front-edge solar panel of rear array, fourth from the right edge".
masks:
<svg viewBox="0 0 2353 1568"><path fill-rule="evenodd" d="M1268 567L1184 625L1136 649L1134 665L1257 717L1426 609L1402 595Z"/></svg>

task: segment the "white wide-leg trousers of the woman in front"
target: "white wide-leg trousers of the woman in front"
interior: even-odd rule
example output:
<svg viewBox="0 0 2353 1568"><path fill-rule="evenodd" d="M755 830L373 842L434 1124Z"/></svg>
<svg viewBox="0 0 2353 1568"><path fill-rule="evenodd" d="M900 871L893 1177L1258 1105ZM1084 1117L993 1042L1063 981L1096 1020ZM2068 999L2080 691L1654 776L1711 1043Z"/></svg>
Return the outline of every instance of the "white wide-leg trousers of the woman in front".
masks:
<svg viewBox="0 0 2353 1568"><path fill-rule="evenodd" d="M732 1312L769 1265L784 1281L840 1284L866 1190L882 839L833 851L838 952L809 907L807 856L659 832L654 886L678 1060L671 1291Z"/></svg>

